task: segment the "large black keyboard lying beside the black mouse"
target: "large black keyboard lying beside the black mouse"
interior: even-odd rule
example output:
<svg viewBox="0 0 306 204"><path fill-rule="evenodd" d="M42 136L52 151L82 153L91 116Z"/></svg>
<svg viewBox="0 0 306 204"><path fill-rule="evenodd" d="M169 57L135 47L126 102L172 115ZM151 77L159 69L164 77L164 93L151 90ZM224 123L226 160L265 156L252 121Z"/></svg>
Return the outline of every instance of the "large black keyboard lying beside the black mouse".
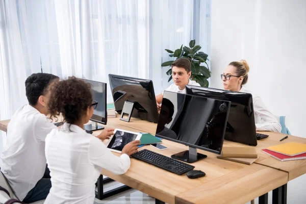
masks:
<svg viewBox="0 0 306 204"><path fill-rule="evenodd" d="M136 152L132 157L179 175L194 169L194 166L147 149Z"/></svg>

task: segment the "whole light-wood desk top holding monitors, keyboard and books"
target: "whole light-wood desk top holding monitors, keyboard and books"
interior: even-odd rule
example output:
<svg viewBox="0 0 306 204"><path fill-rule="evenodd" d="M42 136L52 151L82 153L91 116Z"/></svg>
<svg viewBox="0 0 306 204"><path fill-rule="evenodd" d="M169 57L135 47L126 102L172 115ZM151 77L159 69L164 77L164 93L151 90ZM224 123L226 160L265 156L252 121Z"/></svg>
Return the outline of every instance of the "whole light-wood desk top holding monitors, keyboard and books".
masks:
<svg viewBox="0 0 306 204"><path fill-rule="evenodd" d="M8 122L9 120L0 121L1 130L6 131ZM118 117L109 118L106 125L106 127L151 134L155 134L156 126L156 123L138 119L132 119L128 123L120 121ZM98 131L95 134L98 134ZM196 180L190 180L186 175L176 175L133 158L131 159L131 168L124 175L114 175L105 169L102 173L111 179L168 203L175 203L175 200L176 203L203 203L207 200L217 200L221 203L245 203L306 172L305 160L281 162L264 154L261 151L262 148L278 144L279 139L284 137L284 135L277 133L268 134L270 137L259 141L256 147L260 155L257 164L245 165L220 160L216 158L217 155L211 152L198 150L202 154L208 155L208 158L192 165L195 166L195 169L206 172L207 175ZM305 143L306 139L289 136L289 139L285 141ZM163 140L163 143L168 147L167 150L159 151L151 146L141 147L139 150L147 148L159 154L170 156L188 149L185 145L167 140ZM245 145L224 141L224 146ZM198 197L199 193L202 196Z"/></svg>

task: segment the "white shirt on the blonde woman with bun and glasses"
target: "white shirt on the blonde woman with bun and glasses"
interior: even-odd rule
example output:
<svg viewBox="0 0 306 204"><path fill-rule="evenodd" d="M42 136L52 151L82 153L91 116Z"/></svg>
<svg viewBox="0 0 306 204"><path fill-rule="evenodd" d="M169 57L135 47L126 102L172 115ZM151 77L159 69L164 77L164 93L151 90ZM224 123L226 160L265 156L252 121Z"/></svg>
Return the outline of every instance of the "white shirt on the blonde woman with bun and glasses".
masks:
<svg viewBox="0 0 306 204"><path fill-rule="evenodd" d="M250 93L244 86L242 86L240 92ZM252 98L256 131L273 131L280 133L282 131L281 124L279 124L274 115L268 111L261 97L252 94Z"/></svg>

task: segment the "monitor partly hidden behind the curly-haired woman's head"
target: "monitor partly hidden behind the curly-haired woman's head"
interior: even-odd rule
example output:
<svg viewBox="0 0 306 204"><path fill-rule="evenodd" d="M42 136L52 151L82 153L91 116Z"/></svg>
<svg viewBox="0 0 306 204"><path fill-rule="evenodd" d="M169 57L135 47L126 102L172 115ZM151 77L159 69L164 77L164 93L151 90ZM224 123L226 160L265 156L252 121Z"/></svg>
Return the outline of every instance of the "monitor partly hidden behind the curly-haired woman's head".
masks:
<svg viewBox="0 0 306 204"><path fill-rule="evenodd" d="M89 83L91 85L91 93L93 96L93 100L98 103L97 107L93 110L93 115L90 118L93 123L84 125L84 129L87 131L102 130L104 129L104 127L98 125L97 123L107 124L107 84L103 82L95 82L85 79L80 80L83 80L84 82Z"/></svg>

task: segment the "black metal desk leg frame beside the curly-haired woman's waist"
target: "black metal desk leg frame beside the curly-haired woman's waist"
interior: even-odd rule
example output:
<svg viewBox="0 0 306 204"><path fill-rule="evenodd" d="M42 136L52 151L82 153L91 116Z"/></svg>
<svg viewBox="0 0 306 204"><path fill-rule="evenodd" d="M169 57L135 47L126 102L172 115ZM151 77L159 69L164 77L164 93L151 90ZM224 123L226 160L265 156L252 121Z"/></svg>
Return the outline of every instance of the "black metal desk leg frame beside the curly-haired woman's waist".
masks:
<svg viewBox="0 0 306 204"><path fill-rule="evenodd" d="M107 184L107 183L110 183L110 182L113 182L113 181L114 180L112 180L110 178L103 179L103 175L100 175L99 179L98 179L98 182L97 182L98 183L98 191L95 192L95 197L98 198L99 200L101 200L101 199L116 195L117 193L121 193L123 191L131 189L131 187L123 185L123 186L120 186L118 188L115 188L115 189L104 192L103 191L103 184Z"/></svg>

